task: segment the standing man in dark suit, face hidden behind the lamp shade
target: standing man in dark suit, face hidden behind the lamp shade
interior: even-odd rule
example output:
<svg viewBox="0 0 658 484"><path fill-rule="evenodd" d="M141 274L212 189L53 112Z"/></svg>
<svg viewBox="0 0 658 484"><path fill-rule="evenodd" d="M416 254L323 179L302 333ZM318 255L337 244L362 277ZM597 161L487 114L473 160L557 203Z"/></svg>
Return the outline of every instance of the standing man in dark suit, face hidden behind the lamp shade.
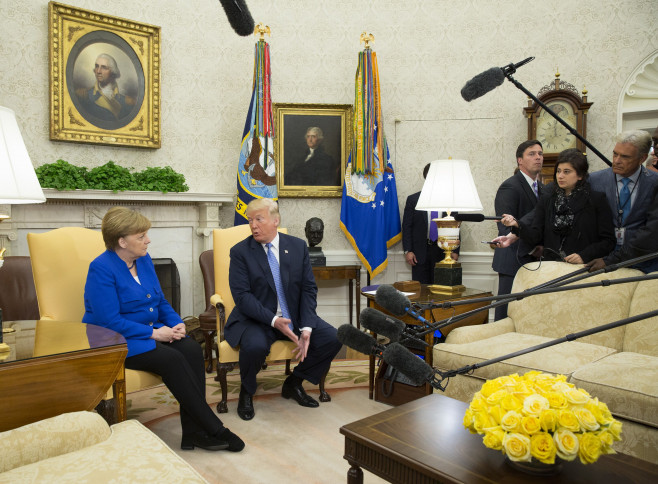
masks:
<svg viewBox="0 0 658 484"><path fill-rule="evenodd" d="M423 169L423 178L427 178L430 164ZM421 284L434 282L434 266L443 260L443 250L436 243L437 234L432 231L432 212L416 210L420 192L407 197L402 217L402 250L404 259L411 266L411 278ZM438 217L438 213L435 214ZM445 216L445 212L442 217ZM434 224L436 227L436 224ZM432 240L433 239L433 240ZM451 254L459 258L459 248Z"/></svg>

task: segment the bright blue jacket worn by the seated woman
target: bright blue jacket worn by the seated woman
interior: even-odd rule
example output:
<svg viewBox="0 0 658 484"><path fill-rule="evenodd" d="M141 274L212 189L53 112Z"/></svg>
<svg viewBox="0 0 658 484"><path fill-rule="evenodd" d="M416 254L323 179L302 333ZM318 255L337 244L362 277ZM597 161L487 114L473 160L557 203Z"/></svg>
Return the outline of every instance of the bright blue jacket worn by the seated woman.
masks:
<svg viewBox="0 0 658 484"><path fill-rule="evenodd" d="M89 264L82 318L126 338L127 356L155 349L153 328L183 322L164 298L151 257L146 254L135 264L140 284L115 252L105 251Z"/></svg>

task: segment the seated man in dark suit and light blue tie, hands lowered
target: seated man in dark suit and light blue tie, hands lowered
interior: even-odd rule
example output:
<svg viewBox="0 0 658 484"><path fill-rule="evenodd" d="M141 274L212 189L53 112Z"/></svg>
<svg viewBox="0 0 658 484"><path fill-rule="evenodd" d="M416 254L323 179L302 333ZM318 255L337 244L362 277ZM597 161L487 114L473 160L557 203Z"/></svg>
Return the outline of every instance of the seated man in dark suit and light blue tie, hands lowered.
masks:
<svg viewBox="0 0 658 484"><path fill-rule="evenodd" d="M230 252L229 286L235 308L226 322L224 336L240 346L242 386L238 415L254 417L256 374L276 340L289 339L300 363L283 383L281 395L304 407L318 402L302 388L302 381L317 385L341 348L336 328L315 312L317 286L306 242L280 234L278 205L259 198L247 205L251 236Z"/></svg>

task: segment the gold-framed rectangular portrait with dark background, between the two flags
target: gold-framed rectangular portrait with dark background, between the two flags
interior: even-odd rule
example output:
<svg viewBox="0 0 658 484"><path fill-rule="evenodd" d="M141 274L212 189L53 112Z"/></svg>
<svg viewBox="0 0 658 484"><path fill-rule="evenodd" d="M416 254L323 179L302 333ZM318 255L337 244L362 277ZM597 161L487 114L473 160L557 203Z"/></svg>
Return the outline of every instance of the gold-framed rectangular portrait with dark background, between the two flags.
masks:
<svg viewBox="0 0 658 484"><path fill-rule="evenodd" d="M340 197L351 148L350 104L273 104L279 197Z"/></svg>

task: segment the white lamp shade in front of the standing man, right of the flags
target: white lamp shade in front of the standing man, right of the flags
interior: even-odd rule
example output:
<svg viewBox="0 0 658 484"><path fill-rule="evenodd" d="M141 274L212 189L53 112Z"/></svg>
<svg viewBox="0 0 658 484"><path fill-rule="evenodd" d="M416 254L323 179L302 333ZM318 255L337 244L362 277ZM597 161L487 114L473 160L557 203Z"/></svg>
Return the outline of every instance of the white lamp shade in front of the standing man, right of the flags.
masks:
<svg viewBox="0 0 658 484"><path fill-rule="evenodd" d="M416 210L480 212L471 168L467 160L434 160L425 178Z"/></svg>

